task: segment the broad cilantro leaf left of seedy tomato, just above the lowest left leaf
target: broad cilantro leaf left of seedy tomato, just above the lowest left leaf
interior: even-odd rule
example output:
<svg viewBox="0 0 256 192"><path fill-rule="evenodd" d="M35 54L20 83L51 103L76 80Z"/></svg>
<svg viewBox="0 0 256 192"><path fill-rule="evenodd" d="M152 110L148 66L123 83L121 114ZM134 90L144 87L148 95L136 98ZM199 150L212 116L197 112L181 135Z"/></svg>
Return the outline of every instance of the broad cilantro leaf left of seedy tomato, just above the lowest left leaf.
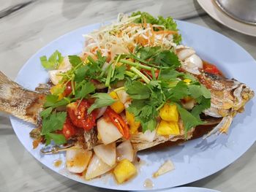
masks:
<svg viewBox="0 0 256 192"><path fill-rule="evenodd" d="M47 118L43 118L41 134L45 135L53 131L61 130L66 118L67 112L53 112Z"/></svg>

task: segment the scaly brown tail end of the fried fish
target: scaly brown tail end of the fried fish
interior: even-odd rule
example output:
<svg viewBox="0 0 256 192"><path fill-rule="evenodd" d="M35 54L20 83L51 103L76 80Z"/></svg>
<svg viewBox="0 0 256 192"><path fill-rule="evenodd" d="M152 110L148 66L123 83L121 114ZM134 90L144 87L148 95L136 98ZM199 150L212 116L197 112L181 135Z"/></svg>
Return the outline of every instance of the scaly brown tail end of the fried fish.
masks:
<svg viewBox="0 0 256 192"><path fill-rule="evenodd" d="M0 72L0 111L37 124L45 94L22 88Z"/></svg>

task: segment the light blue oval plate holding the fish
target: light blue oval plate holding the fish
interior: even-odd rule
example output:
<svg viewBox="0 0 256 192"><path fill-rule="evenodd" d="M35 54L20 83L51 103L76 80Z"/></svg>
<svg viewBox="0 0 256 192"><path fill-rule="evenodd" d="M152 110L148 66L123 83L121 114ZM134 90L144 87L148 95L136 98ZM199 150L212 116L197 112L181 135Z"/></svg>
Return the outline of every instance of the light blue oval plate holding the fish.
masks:
<svg viewBox="0 0 256 192"><path fill-rule="evenodd" d="M82 34L89 33L89 31L99 28L99 26L99 24L94 24L78 28L50 42L27 61L18 74L17 82L32 90L37 87L39 82L46 82L48 74L40 65L39 57L50 55L55 50L59 50L63 55L79 53L84 42ZM245 82L253 90L256 90L254 81L256 62L242 47L208 28L181 21L178 21L178 28L181 31L183 43L194 47L201 58L217 64L228 77L236 77L237 80ZM150 178L153 181L153 189L170 188L200 180L225 168L225 166L239 158L255 142L255 116L256 107L255 99L253 99L246 105L245 112L237 115L228 135L212 136L206 140L195 139L186 142L184 145L165 147L152 153L139 153L138 155L143 164L138 170L138 176L124 185L117 185L112 176L86 181L75 174L66 172L64 165L56 168L53 166L53 161L56 159L64 161L64 154L42 155L39 153L40 146L33 150L32 139L29 137L29 131L33 126L17 118L11 118L11 122L18 139L20 139L24 147L29 150L34 158L48 166L49 169L88 185L138 191L146 190L143 187L146 178ZM157 171L159 166L167 159L173 161L176 169L156 179L151 178L152 173Z"/></svg>

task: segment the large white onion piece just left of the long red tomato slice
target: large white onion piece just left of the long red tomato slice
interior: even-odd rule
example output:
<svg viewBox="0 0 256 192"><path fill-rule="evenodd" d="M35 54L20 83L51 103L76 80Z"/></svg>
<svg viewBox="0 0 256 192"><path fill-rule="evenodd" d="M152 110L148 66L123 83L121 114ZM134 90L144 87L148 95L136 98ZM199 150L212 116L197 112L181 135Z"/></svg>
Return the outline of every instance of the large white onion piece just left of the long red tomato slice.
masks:
<svg viewBox="0 0 256 192"><path fill-rule="evenodd" d="M111 142L115 142L117 139L122 137L121 133L118 131L118 128L105 117L99 118L97 120L97 130L99 137L102 139L102 142L105 145L108 145Z"/></svg>

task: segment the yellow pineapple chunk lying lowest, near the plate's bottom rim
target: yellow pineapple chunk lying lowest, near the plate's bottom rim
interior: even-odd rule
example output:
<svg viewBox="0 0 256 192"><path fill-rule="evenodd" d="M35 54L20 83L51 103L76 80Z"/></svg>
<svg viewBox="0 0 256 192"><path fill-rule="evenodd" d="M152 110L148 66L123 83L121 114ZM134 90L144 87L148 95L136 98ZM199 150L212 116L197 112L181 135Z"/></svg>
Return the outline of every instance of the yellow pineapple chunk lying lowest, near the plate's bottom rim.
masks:
<svg viewBox="0 0 256 192"><path fill-rule="evenodd" d="M115 167L113 173L118 183L124 183L124 181L129 180L137 174L137 169L134 164L125 158Z"/></svg>

